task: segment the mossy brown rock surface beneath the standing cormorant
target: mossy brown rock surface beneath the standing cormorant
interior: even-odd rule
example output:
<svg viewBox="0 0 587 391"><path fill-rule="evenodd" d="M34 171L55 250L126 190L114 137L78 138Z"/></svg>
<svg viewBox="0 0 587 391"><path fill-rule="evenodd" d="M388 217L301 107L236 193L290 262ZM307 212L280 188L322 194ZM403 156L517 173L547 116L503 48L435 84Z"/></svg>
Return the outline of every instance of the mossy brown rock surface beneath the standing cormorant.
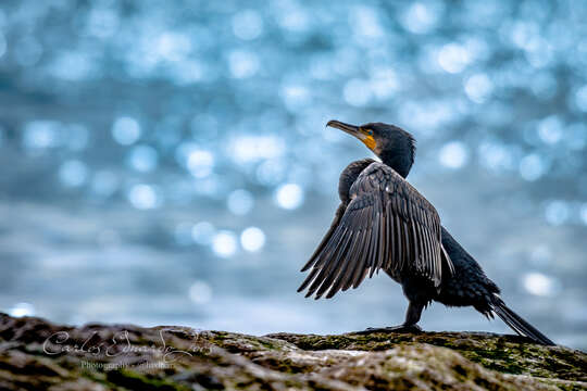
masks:
<svg viewBox="0 0 587 391"><path fill-rule="evenodd" d="M7 390L579 390L587 356L479 332L276 333L0 314Z"/></svg>

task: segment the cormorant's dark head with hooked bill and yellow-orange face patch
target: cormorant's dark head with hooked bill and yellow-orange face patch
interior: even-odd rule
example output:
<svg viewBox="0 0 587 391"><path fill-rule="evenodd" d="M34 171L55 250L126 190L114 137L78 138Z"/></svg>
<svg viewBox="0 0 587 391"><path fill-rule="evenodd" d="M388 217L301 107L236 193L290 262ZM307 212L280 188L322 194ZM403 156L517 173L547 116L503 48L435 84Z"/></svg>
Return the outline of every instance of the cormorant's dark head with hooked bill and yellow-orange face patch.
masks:
<svg viewBox="0 0 587 391"><path fill-rule="evenodd" d="M405 177L414 163L415 140L412 135L395 125L369 123L349 125L340 121L328 121L326 126L340 129L361 140L384 163Z"/></svg>

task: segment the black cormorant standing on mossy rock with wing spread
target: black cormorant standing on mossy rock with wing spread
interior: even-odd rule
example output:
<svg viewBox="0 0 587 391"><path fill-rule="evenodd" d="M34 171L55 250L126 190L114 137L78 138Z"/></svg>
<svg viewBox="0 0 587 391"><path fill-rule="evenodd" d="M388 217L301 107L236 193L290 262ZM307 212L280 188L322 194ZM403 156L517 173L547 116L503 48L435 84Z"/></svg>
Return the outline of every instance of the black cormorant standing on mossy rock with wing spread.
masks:
<svg viewBox="0 0 587 391"><path fill-rule="evenodd" d="M434 300L448 306L472 305L488 318L497 314L519 335L554 344L505 305L496 283L440 225L435 207L405 180L414 163L412 135L383 123L354 126L329 121L326 126L357 137L380 162L363 159L340 174L340 205L302 268L310 275L298 292L309 287L307 298L326 293L329 299L383 269L402 286L410 302L405 321L363 332L420 330L422 311Z"/></svg>

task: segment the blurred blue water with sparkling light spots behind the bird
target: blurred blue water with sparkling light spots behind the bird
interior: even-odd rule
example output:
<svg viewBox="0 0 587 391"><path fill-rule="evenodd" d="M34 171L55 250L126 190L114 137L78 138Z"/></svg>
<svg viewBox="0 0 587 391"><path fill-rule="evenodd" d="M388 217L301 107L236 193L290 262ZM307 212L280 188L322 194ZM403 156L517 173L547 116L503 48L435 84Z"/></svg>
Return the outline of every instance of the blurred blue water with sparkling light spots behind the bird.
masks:
<svg viewBox="0 0 587 391"><path fill-rule="evenodd" d="M587 349L587 2L2 0L0 308L54 321L342 332L403 320L379 275L296 293L371 153L560 343ZM510 332L433 304L428 330Z"/></svg>

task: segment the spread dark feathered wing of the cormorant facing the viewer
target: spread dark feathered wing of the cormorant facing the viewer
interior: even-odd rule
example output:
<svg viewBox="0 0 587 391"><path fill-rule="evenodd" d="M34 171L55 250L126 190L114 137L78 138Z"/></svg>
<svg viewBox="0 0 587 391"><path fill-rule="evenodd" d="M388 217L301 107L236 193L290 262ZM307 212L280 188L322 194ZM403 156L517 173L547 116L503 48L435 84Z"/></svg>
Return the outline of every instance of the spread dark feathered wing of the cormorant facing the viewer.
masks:
<svg viewBox="0 0 587 391"><path fill-rule="evenodd" d="M305 297L357 288L380 268L423 276L438 287L442 262L452 263L441 245L440 218L434 206L385 164L366 167L350 189L321 244L302 268L310 270L298 291Z"/></svg>

